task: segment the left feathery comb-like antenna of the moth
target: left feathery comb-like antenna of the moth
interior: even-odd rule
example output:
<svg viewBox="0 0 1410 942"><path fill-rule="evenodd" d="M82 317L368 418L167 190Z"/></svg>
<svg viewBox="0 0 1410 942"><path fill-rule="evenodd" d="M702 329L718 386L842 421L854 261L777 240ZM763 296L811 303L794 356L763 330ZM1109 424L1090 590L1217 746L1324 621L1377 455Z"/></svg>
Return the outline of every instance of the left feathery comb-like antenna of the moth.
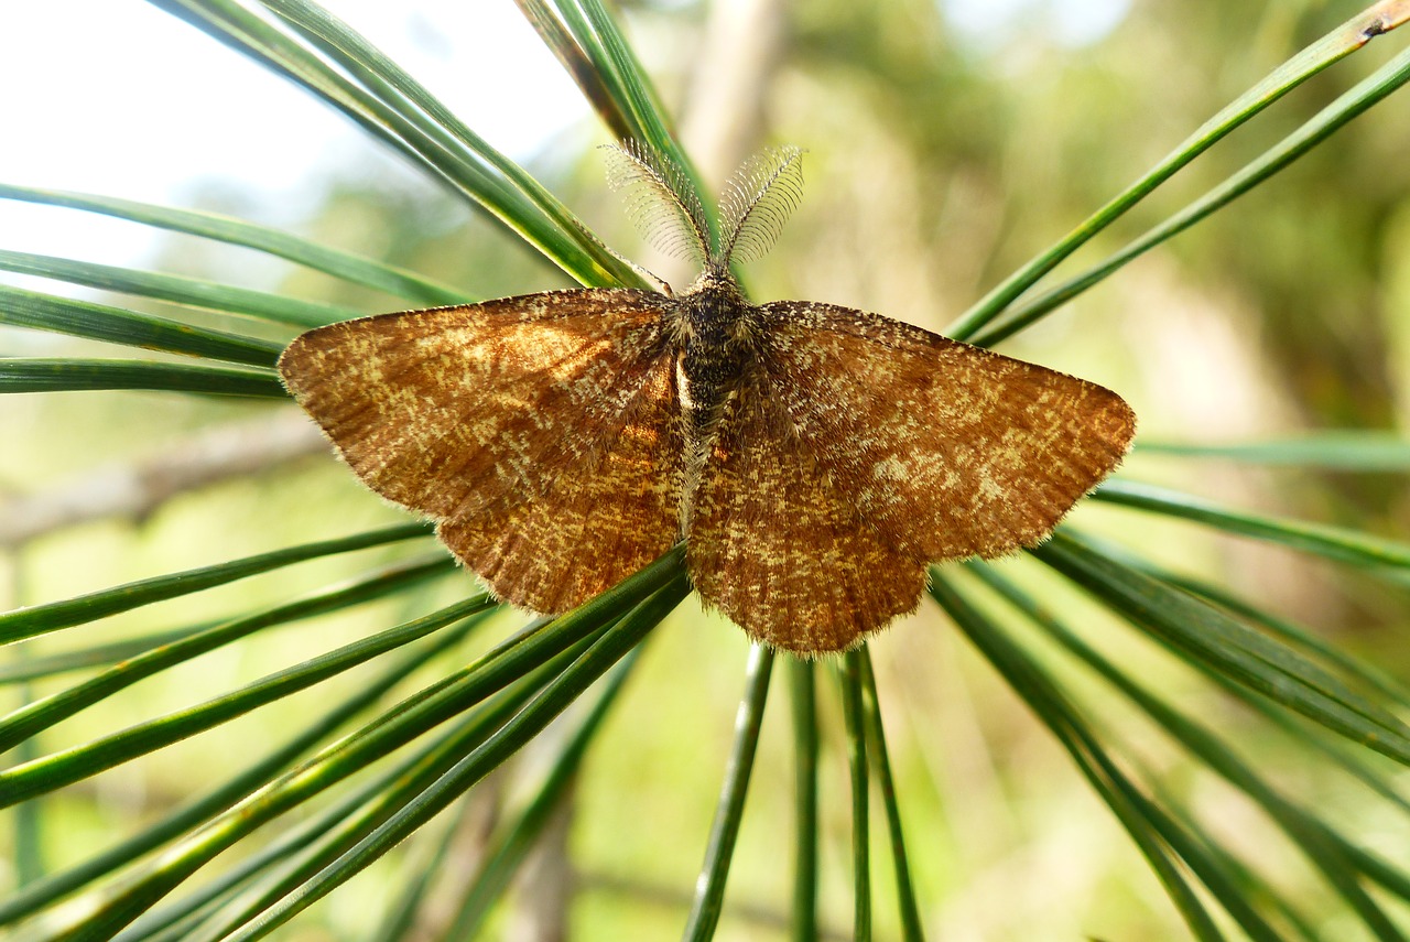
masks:
<svg viewBox="0 0 1410 942"><path fill-rule="evenodd" d="M626 212L642 237L667 255L705 265L713 255L709 223L685 171L637 141L602 149L608 186L626 190Z"/></svg>

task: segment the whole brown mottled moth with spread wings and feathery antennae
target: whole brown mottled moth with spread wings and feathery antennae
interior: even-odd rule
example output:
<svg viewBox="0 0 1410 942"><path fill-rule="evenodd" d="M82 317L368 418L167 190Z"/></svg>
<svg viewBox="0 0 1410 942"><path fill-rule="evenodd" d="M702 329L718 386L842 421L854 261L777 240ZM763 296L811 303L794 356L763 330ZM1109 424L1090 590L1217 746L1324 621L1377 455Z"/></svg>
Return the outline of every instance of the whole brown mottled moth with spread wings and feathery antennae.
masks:
<svg viewBox="0 0 1410 942"><path fill-rule="evenodd" d="M718 238L680 168L611 154L637 221L699 261L684 293L382 314L279 360L362 482L501 598L563 612L684 539L701 598L750 637L838 652L912 611L929 563L1046 539L1131 446L1129 406L1090 382L849 307L749 303L730 264L797 203L798 149L735 173Z"/></svg>

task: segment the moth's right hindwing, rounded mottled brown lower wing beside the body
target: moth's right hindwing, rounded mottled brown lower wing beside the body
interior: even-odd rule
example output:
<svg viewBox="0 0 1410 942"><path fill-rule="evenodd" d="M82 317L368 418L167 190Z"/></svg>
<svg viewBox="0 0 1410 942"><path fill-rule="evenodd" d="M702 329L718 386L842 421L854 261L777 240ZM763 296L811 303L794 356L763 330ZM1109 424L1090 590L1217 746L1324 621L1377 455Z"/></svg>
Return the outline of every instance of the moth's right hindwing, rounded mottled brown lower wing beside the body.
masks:
<svg viewBox="0 0 1410 942"><path fill-rule="evenodd" d="M719 419L695 488L691 578L756 640L845 650L916 606L925 560L866 526L767 386L746 374Z"/></svg>

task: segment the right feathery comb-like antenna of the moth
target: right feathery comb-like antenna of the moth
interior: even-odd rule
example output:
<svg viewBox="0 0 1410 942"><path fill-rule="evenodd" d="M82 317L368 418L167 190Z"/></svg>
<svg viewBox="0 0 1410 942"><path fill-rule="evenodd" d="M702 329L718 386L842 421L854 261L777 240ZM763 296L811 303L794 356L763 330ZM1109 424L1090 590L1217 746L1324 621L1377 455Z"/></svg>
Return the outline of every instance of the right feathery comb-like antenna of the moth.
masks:
<svg viewBox="0 0 1410 942"><path fill-rule="evenodd" d="M719 252L711 265L750 262L773 248L802 199L802 149L780 147L744 161L725 183Z"/></svg>

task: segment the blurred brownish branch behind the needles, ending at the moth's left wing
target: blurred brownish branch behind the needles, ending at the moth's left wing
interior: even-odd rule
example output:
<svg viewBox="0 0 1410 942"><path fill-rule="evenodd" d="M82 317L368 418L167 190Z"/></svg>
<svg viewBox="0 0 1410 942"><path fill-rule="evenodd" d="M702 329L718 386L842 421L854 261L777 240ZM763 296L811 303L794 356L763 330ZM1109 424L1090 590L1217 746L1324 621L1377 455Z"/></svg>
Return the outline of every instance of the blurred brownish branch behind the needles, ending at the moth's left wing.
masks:
<svg viewBox="0 0 1410 942"><path fill-rule="evenodd" d="M141 520L179 494L258 474L327 447L317 427L292 410L203 432L142 461L97 468L48 491L0 502L0 549L92 520Z"/></svg>

